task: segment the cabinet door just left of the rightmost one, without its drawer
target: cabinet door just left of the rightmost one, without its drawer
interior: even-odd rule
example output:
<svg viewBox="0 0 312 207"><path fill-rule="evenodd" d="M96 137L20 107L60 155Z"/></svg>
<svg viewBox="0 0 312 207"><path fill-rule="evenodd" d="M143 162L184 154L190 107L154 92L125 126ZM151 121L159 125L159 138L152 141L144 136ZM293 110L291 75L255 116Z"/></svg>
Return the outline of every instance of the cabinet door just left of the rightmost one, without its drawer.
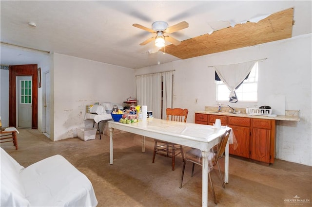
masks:
<svg viewBox="0 0 312 207"><path fill-rule="evenodd" d="M231 155L237 155L249 158L250 156L250 128L248 127L240 127L240 126L232 126L230 127L233 130L234 136L237 141L237 148L234 149L232 144L229 145L229 153Z"/></svg>

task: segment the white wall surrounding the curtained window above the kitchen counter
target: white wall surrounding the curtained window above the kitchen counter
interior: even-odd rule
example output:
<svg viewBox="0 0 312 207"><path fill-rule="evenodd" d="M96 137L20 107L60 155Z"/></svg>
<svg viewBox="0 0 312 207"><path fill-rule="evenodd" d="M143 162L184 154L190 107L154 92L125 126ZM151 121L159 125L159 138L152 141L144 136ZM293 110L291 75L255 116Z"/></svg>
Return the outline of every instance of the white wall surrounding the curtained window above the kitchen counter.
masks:
<svg viewBox="0 0 312 207"><path fill-rule="evenodd" d="M267 58L259 62L258 102L222 103L224 107L268 104L269 95L285 95L286 110L300 110L300 121L277 121L276 158L312 166L311 34L136 70L136 75L175 69L173 107L196 110L216 106L215 71L208 66ZM195 103L195 99L198 99Z"/></svg>

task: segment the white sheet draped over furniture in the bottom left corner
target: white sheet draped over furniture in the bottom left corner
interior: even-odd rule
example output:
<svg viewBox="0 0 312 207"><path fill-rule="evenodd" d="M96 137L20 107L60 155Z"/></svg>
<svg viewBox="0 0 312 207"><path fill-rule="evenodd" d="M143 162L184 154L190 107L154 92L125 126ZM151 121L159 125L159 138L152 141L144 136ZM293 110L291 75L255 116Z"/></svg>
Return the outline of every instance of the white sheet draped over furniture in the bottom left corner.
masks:
<svg viewBox="0 0 312 207"><path fill-rule="evenodd" d="M12 166L11 170L3 168L4 162ZM5 176L10 182L8 179L2 179ZM4 182L8 188L3 188ZM97 205L98 201L90 180L63 156L54 155L23 169L1 148L1 206Z"/></svg>

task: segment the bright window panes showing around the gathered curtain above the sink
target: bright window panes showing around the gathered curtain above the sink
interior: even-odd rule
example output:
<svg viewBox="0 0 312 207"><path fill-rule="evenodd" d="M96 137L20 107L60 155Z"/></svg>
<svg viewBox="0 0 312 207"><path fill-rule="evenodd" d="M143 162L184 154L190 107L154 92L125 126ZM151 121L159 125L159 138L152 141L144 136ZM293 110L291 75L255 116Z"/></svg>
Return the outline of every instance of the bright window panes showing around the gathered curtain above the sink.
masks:
<svg viewBox="0 0 312 207"><path fill-rule="evenodd" d="M216 81L216 101L229 101L230 90L222 81ZM258 100L258 62L254 64L248 78L235 90L239 101L256 102Z"/></svg>

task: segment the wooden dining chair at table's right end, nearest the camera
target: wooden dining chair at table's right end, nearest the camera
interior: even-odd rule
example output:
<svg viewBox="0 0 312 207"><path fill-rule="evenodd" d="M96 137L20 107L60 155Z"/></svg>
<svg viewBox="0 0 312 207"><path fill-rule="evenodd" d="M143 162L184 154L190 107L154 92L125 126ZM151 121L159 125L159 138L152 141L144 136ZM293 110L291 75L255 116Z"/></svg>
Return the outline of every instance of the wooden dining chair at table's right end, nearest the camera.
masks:
<svg viewBox="0 0 312 207"><path fill-rule="evenodd" d="M209 179L209 182L210 182L210 185L211 185L211 188L212 188L215 204L217 204L216 198L215 198L215 189L214 189L214 184L213 184L210 172L214 169L215 165L218 166L219 175L220 175L220 178L222 180L222 187L225 188L224 178L222 176L218 160L220 158L222 158L223 155L224 155L225 146L226 146L226 144L228 142L228 139L229 139L229 136L230 136L230 132L231 132L231 129L228 129L222 135L222 138L221 138L220 142L217 145L215 145L211 149L211 151L208 153L208 179ZM201 151L199 149L192 148L190 151L185 153L184 163L183 163L183 168L182 168L181 178L180 178L180 188L182 188L184 169L185 169L185 164L186 164L187 161L193 162L192 174L191 174L191 176L193 177L195 164L202 166Z"/></svg>

